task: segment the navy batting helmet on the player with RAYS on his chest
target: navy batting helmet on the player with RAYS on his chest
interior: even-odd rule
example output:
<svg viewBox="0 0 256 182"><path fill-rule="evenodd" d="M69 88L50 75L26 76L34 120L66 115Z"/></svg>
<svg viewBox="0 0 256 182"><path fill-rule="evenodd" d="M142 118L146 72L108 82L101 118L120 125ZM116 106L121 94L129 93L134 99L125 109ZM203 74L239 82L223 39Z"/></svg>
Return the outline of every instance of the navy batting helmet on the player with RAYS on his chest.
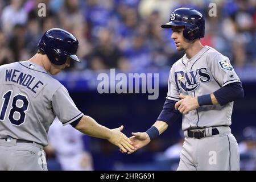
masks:
<svg viewBox="0 0 256 182"><path fill-rule="evenodd" d="M170 16L170 22L162 24L162 28L172 28L173 26L183 26L183 36L188 40L195 40L204 37L204 17L191 8L181 7L174 10Z"/></svg>

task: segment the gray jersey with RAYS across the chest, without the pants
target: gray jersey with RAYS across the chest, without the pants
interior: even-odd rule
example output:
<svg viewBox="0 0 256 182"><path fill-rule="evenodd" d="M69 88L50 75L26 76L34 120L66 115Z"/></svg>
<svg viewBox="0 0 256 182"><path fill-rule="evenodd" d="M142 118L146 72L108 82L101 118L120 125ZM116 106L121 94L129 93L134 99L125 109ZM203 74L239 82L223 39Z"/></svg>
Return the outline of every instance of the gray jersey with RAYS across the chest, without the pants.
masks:
<svg viewBox="0 0 256 182"><path fill-rule="evenodd" d="M228 57L205 46L191 59L184 55L172 65L166 98L179 101L178 95L197 97L210 94L232 82L240 82L240 79ZM233 102L224 106L200 106L183 114L182 129L230 126L232 108Z"/></svg>

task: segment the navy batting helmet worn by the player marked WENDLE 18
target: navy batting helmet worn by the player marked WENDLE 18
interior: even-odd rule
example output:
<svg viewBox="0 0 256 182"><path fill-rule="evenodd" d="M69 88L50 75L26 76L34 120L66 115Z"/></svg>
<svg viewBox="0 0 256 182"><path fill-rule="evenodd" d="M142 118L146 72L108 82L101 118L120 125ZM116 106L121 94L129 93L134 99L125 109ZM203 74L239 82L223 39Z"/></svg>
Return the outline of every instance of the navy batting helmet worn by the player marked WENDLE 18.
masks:
<svg viewBox="0 0 256 182"><path fill-rule="evenodd" d="M44 33L38 48L46 53L51 63L63 65L67 57L81 62L76 56L79 42L75 36L60 28L52 28Z"/></svg>

